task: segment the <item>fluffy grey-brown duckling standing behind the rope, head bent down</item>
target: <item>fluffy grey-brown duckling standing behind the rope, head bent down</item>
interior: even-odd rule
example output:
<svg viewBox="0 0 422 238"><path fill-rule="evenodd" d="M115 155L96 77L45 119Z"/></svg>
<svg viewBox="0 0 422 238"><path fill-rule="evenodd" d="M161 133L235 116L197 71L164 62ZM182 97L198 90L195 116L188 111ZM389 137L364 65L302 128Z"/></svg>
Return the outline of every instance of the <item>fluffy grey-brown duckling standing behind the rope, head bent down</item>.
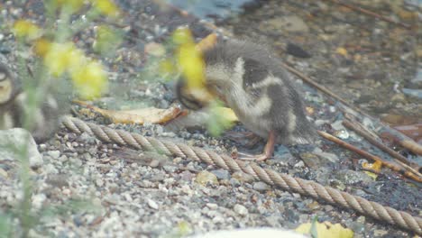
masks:
<svg viewBox="0 0 422 238"><path fill-rule="evenodd" d="M225 102L244 127L267 139L261 154L239 153L239 159L269 159L276 142L312 142L316 130L307 121L300 93L269 50L252 42L219 40L202 53L206 89ZM182 105L192 110L206 106L185 86L185 79L180 78L176 94Z"/></svg>

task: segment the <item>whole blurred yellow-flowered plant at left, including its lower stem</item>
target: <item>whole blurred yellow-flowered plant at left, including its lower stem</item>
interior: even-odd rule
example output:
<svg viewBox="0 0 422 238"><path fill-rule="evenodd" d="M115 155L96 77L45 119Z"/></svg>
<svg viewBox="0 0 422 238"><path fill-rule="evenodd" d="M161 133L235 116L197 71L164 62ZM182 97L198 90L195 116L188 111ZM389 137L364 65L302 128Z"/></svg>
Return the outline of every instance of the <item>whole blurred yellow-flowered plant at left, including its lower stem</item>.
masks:
<svg viewBox="0 0 422 238"><path fill-rule="evenodd" d="M19 80L27 95L24 102L27 112L23 118L26 129L32 128L33 113L42 105L47 94L69 99L73 88L80 98L95 99L107 91L105 67L96 59L96 54L88 55L79 49L74 39L87 30L93 21L99 18L116 19L121 14L111 0L46 0L43 5L45 23L38 25L29 19L20 19L11 27L17 42ZM113 27L100 25L95 30L93 52L110 54L120 44L121 35ZM70 82L72 87L69 88ZM43 218L46 214L66 216L78 210L74 209L75 206L86 213L86 207L91 206L90 197L87 202L82 199L82 202L72 202L72 206L60 206L60 209L52 209L48 205L42 205L39 209L32 206L33 178L26 146L28 142L29 138L19 146L17 153L22 188L22 192L17 194L22 196L17 200L16 207L0 212L0 237L28 237L42 233L38 225L45 221ZM69 211L63 212L63 209Z"/></svg>

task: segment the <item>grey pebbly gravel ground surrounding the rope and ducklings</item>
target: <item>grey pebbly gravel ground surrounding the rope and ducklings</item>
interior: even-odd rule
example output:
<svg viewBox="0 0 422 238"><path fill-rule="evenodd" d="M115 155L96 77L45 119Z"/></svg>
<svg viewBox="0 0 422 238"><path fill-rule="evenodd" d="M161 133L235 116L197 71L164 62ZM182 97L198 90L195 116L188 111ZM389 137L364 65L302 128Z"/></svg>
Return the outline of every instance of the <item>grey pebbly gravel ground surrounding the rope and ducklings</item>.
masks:
<svg viewBox="0 0 422 238"><path fill-rule="evenodd" d="M164 43L179 25L189 24L197 38L210 31L196 19L180 16L150 1L121 0L118 3L124 10L124 19L116 24L126 34L117 56L103 58L111 72L113 93L102 98L101 104L112 108L137 104L166 108L174 96L167 85L145 79L151 59L144 53L145 49L151 42ZM25 12L16 3L6 2L0 20L11 23L26 17L42 23L39 2L28 1L25 7L32 11ZM321 1L317 4L285 2L282 6L278 1L268 1L258 10L219 24L238 37L268 44L295 68L345 99L355 102L361 99L359 105L365 109L384 108L382 104L389 104L392 107L381 110L382 113L395 114L394 110L400 113L403 110L408 116L419 116L420 104L408 96L400 95L401 101L393 105L386 100L401 94L391 89L396 81L404 87L414 77L417 65L411 49L416 46L414 39L410 39L414 36L395 25L340 10L342 12L338 6ZM381 12L385 11L389 9L382 5ZM288 20L271 20L279 17ZM286 21L293 21L293 26L280 24ZM95 25L92 23L74 39L79 47L87 49L92 45ZM359 31L361 27L363 31ZM1 31L1 53L13 64L15 56L22 52L15 50L10 30L3 27ZM295 42L311 57L284 54L287 42ZM338 48L344 48L347 54L336 53ZM294 54L298 54L296 51ZM372 93L373 86L379 93ZM312 88L303 88L307 105L314 109L312 118L317 125L329 124L332 131L345 140L388 158L356 134L347 133L340 124L338 109L324 96ZM362 101L362 98L369 99ZM372 122L367 123L372 125ZM231 151L236 145L225 137L213 138L204 130L168 131L161 125L151 124L111 126L217 152ZM31 172L32 210L40 222L31 231L34 237L179 237L244 227L294 229L311 222L315 216L319 221L343 224L353 230L355 237L409 236L395 226L273 189L243 174L106 144L86 133L76 135L62 129L49 142L38 145L38 150L43 162ZM421 215L422 201L417 185L403 181L388 170L374 180L359 169L357 161L361 159L331 142L318 140L312 146L279 145L274 158L261 165ZM22 197L16 167L14 160L0 161L0 207L5 213L12 212Z"/></svg>

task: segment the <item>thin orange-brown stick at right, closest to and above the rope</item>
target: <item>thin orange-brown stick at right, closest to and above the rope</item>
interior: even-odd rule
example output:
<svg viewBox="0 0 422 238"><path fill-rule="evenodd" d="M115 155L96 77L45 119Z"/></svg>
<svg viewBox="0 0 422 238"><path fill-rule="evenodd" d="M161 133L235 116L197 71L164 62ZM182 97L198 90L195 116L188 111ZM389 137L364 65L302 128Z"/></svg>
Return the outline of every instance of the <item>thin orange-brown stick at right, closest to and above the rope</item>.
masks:
<svg viewBox="0 0 422 238"><path fill-rule="evenodd" d="M321 135L322 137L326 138L326 140L328 140L330 142L335 142L335 143L339 144L340 146L343 146L345 149L350 150L350 151L353 151L353 152L355 152L355 153L363 156L366 159L373 160L373 161L379 161L385 167L390 168L390 169L392 169L394 171L397 171L397 172L399 172L400 174L404 175L407 178L413 179L413 180L415 180L417 182L422 182L422 178L416 176L415 174L413 174L413 173L411 173L409 171L406 171L406 170L402 169L398 165L395 165L393 163L390 163L389 161L382 160L380 157L375 156L375 155L373 155L373 154L371 154L371 153L369 153L367 151L362 151L359 148L353 146L352 144L350 144L348 142L344 142L344 141L338 139L337 137L335 137L335 136L333 136L333 135L331 135L329 133L322 132L322 131L317 131L317 133L319 135Z"/></svg>

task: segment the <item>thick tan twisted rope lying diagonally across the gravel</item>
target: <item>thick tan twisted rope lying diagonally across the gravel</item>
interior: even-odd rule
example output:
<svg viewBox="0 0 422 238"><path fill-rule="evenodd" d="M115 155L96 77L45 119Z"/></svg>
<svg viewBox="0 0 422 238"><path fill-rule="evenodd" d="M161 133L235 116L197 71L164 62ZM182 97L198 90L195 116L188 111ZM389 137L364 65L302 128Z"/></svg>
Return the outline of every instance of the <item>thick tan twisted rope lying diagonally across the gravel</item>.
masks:
<svg viewBox="0 0 422 238"><path fill-rule="evenodd" d="M278 173L271 169L262 169L253 162L233 160L225 154L217 154L213 151L206 151L183 143L145 137L137 133L114 130L104 125L86 123L70 116L63 117L62 124L74 133L89 133L104 142L115 142L119 145L131 146L138 150L158 151L169 156L190 158L228 169L232 172L243 171L252 175L253 178L264 181L271 186L315 199L322 199L327 203L353 209L362 215L368 215L379 221L396 224L408 231L422 234L422 218L420 217L409 215L406 212L398 211L389 206L382 206L379 203L353 196L335 188L324 187L314 181L293 178L288 174Z"/></svg>

